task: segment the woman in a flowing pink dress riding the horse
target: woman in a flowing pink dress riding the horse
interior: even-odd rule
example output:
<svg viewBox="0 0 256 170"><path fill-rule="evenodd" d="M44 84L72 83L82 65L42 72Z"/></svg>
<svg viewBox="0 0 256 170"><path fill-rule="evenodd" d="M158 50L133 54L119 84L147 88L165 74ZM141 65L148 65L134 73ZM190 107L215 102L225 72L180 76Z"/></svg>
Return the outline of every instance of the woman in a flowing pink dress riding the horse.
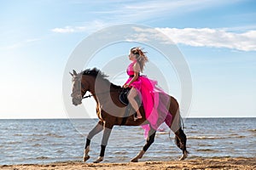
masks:
<svg viewBox="0 0 256 170"><path fill-rule="evenodd" d="M137 111L135 121L142 118L139 106L135 100L135 97L139 94L143 102L146 119L150 122L151 127L156 130L162 122L165 122L167 115L169 115L169 120L170 116L172 116L167 110L169 97L162 89L156 87L156 81L140 75L145 63L148 61L148 57L141 48L131 48L129 59L131 59L131 64L127 68L129 78L123 85L123 88L131 88L128 100L134 110ZM159 98L160 94L161 99ZM148 131L148 129L145 130Z"/></svg>

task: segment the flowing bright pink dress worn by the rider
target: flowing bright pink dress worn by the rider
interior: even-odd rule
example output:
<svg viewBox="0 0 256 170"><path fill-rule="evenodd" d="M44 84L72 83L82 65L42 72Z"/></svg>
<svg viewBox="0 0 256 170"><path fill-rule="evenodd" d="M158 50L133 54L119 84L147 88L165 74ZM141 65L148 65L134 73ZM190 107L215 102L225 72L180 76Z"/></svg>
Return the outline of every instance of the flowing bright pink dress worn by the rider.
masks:
<svg viewBox="0 0 256 170"><path fill-rule="evenodd" d="M137 61L131 62L126 70L129 78L125 83L129 83L134 75L133 65ZM131 87L137 89L137 94L143 102L146 119L151 127L155 130L161 123L166 122L170 127L172 122L172 115L166 109L169 105L169 96L162 89L156 87L157 81L149 79L147 76L139 76L136 81L131 83ZM159 98L160 96L160 98ZM168 107L167 107L168 108ZM145 135L148 135L149 126L143 126Z"/></svg>

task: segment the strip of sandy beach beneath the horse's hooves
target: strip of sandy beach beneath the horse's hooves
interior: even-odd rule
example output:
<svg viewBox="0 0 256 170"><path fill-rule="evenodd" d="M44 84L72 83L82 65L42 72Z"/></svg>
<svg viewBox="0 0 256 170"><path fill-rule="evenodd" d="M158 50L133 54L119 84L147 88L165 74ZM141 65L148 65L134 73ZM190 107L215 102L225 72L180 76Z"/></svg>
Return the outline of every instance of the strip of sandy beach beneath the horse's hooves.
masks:
<svg viewBox="0 0 256 170"><path fill-rule="evenodd" d="M84 163L65 161L50 164L3 165L0 169L256 169L256 158L192 158L185 161L142 161L127 163Z"/></svg>

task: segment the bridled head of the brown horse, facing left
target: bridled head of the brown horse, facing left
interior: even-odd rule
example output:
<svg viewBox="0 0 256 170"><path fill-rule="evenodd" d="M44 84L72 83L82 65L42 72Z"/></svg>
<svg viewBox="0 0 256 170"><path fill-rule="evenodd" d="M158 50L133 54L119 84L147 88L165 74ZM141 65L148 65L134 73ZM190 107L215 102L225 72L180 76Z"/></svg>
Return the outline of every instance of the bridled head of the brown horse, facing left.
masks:
<svg viewBox="0 0 256 170"><path fill-rule="evenodd" d="M73 82L73 90L71 97L73 105L80 105L82 104L82 99L84 94L86 93L86 87L83 86L82 84L82 73L77 73L76 71L73 70L73 73L69 72L72 76L72 82Z"/></svg>

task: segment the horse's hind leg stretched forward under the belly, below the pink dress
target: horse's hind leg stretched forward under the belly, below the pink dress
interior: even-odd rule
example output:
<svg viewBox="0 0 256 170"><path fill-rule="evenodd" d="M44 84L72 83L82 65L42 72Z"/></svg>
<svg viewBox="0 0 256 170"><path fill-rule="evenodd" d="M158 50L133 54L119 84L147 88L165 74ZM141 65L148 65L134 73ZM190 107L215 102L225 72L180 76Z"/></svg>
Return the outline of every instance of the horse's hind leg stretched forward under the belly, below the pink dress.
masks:
<svg viewBox="0 0 256 170"><path fill-rule="evenodd" d="M150 130L148 132L148 139L147 143L143 146L143 150L141 150L137 156L131 159L132 162L137 162L139 159L143 158L143 155L148 150L149 146L154 143L154 137L155 137L155 130L150 127Z"/></svg>

